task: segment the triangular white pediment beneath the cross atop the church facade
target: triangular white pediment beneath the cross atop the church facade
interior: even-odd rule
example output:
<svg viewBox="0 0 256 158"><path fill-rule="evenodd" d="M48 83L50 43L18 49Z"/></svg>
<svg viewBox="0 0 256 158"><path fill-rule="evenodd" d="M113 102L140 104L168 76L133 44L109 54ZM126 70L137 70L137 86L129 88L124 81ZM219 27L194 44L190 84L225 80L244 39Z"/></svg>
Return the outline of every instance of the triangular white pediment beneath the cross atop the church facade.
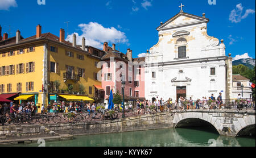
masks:
<svg viewBox="0 0 256 158"><path fill-rule="evenodd" d="M169 19L167 22L163 23L161 26L156 28L156 30L160 31L160 30L171 29L175 27L183 27L183 26L202 23L202 22L209 22L209 19L197 16L197 15L180 12L176 14L174 17L172 17L171 19Z"/></svg>

